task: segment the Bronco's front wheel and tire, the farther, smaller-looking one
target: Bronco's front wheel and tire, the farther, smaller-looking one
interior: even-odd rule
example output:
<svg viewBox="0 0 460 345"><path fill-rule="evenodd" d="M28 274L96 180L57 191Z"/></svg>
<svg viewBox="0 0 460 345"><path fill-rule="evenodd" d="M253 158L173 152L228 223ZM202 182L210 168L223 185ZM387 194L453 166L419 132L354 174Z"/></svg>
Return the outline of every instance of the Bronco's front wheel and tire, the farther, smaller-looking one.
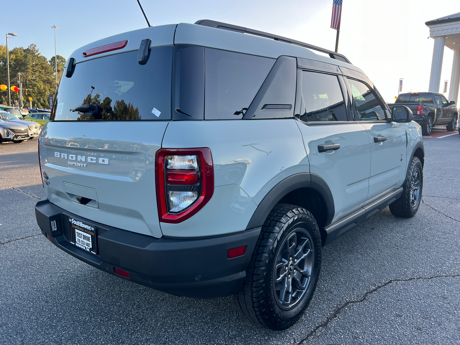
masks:
<svg viewBox="0 0 460 345"><path fill-rule="evenodd" d="M390 205L393 215L402 218L414 217L417 213L423 190L423 167L418 157L412 157L403 184L403 195Z"/></svg>

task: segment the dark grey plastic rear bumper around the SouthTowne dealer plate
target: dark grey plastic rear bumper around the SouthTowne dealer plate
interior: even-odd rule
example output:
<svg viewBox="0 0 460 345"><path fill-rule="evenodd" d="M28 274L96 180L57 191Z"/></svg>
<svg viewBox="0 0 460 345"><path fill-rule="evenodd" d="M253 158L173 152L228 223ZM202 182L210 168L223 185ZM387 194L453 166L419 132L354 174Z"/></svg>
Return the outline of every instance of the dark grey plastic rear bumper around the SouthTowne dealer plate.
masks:
<svg viewBox="0 0 460 345"><path fill-rule="evenodd" d="M206 238L155 238L84 219L48 200L37 202L35 215L43 234L75 258L112 275L115 267L126 270L128 280L150 288L201 299L238 291L260 233L256 228ZM97 226L98 255L70 243L69 217ZM54 232L52 220L57 221ZM227 259L228 249L243 245L247 245L243 256Z"/></svg>

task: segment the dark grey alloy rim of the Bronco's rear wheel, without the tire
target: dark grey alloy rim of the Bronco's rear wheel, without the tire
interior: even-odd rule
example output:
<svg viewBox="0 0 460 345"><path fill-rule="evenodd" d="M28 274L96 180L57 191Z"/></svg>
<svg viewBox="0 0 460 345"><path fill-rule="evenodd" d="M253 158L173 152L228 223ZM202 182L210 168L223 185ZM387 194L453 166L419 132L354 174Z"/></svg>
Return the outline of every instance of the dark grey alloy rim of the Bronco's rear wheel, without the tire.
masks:
<svg viewBox="0 0 460 345"><path fill-rule="evenodd" d="M293 310L310 286L314 266L313 240L307 230L295 229L280 246L273 273L273 293L283 310Z"/></svg>

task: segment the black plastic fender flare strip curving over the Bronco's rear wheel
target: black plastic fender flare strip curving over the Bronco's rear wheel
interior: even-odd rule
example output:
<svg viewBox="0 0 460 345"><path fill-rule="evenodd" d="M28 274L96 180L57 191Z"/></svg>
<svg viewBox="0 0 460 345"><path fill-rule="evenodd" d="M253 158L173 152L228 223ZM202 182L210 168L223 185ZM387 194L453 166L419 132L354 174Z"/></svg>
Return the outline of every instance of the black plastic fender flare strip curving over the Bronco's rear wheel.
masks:
<svg viewBox="0 0 460 345"><path fill-rule="evenodd" d="M328 184L321 177L311 173L297 173L285 178L273 187L260 201L253 216L249 220L246 229L253 229L262 226L267 219L270 211L276 203L288 193L299 188L310 188L316 190L323 198L327 207L326 226L331 224L334 218L335 207L334 198Z"/></svg>

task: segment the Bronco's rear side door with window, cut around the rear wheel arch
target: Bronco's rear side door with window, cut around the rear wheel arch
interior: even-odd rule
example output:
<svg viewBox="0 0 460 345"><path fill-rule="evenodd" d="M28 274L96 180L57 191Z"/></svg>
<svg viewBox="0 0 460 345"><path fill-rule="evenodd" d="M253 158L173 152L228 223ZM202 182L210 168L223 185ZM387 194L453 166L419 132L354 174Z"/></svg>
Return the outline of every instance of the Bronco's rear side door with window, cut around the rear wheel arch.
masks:
<svg viewBox="0 0 460 345"><path fill-rule="evenodd" d="M296 117L310 172L325 180L334 197L333 221L364 204L370 171L368 134L362 124L349 121L353 119L341 84L344 86L338 75L298 73Z"/></svg>

